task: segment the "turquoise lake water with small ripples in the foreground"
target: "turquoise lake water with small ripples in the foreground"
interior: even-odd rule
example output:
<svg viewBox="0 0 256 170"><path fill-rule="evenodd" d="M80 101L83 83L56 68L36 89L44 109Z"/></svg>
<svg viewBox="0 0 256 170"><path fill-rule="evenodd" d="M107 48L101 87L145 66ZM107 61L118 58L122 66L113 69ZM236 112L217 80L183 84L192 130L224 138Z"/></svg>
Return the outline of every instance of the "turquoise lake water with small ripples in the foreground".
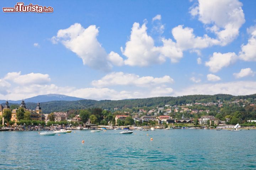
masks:
<svg viewBox="0 0 256 170"><path fill-rule="evenodd" d="M0 132L0 169L256 169L256 130L119 132Z"/></svg>

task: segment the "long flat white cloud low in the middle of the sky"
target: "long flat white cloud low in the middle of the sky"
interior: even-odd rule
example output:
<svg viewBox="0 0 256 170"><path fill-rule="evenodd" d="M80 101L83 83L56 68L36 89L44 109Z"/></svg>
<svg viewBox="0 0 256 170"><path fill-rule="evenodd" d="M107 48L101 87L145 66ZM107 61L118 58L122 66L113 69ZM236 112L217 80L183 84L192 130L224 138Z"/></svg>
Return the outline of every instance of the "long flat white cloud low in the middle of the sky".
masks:
<svg viewBox="0 0 256 170"><path fill-rule="evenodd" d="M96 87L106 87L114 85L135 85L135 86L150 86L156 84L173 83L174 80L165 75L164 77L154 78L151 76L139 77L135 74L125 74L123 72L113 72L105 75L100 80L92 81L92 85Z"/></svg>

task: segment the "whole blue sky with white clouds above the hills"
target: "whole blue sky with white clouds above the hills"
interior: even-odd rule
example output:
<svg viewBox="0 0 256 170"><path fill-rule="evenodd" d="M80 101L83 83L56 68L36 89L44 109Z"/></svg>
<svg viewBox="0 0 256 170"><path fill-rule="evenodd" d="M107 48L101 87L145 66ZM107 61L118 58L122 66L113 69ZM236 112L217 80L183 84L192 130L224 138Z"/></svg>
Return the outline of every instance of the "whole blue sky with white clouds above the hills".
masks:
<svg viewBox="0 0 256 170"><path fill-rule="evenodd" d="M256 93L256 1L70 2L0 12L1 99Z"/></svg>

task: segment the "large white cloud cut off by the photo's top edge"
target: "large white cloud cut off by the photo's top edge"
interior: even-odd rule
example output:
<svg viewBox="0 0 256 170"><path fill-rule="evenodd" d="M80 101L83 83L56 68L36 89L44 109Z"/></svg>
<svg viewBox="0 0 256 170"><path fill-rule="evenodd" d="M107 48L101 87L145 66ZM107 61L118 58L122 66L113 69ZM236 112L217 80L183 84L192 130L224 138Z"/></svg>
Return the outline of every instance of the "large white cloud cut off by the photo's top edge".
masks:
<svg viewBox="0 0 256 170"><path fill-rule="evenodd" d="M239 29L245 23L242 3L238 0L198 0L198 6L192 7L190 13L198 16L223 46L239 35Z"/></svg>

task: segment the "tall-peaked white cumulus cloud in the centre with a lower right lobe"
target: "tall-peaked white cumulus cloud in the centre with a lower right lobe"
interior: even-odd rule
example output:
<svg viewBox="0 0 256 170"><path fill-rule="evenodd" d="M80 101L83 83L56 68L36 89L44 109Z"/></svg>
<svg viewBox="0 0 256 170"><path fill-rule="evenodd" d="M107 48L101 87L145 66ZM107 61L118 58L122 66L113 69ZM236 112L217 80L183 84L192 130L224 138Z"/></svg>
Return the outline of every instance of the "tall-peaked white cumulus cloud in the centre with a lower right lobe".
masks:
<svg viewBox="0 0 256 170"><path fill-rule="evenodd" d="M160 64L166 61L166 57L171 62L177 62L182 58L182 50L177 48L171 39L162 38L163 46L156 47L154 40L146 32L147 27L144 23L141 27L139 23L134 23L130 35L130 40L126 42L126 47L121 51L127 59L125 64L130 66L149 66Z"/></svg>

